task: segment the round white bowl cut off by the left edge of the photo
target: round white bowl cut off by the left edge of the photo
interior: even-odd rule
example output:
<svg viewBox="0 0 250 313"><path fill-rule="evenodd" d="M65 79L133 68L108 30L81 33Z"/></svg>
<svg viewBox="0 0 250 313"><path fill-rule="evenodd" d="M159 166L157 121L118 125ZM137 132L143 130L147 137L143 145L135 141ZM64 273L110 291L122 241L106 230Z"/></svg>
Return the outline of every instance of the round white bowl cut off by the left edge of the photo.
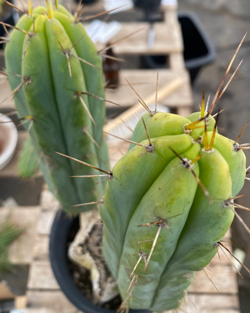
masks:
<svg viewBox="0 0 250 313"><path fill-rule="evenodd" d="M11 161L17 146L17 138L17 129L13 121L0 113L0 170Z"/></svg>

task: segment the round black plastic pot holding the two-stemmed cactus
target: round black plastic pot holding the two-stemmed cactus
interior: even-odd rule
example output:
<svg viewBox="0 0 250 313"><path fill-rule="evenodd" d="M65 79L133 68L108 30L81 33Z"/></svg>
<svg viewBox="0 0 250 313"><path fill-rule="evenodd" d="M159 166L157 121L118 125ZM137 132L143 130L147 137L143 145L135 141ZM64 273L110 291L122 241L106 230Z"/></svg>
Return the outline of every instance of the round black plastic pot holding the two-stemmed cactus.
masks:
<svg viewBox="0 0 250 313"><path fill-rule="evenodd" d="M78 224L78 218L70 218L64 212L58 213L53 222L49 239L49 257L55 278L65 296L85 313L115 313L91 303L74 285L68 270L67 243L70 230ZM130 313L150 313L148 310L129 310Z"/></svg>

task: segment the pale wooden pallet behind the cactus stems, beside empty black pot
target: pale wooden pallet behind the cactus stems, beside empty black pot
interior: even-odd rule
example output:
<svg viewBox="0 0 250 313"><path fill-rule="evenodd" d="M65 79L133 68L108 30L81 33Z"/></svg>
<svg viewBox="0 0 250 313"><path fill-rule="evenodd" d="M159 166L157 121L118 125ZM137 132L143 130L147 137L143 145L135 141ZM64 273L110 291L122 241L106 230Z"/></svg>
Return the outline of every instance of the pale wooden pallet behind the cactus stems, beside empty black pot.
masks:
<svg viewBox="0 0 250 313"><path fill-rule="evenodd" d="M92 7L94 9L95 6ZM100 2L97 3L100 9ZM90 8L91 9L91 8ZM180 23L177 17L177 6L162 6L164 20L154 23L154 42L148 46L148 34L150 26L145 22L122 22L121 29L116 33L110 42L115 42L114 53L119 56L142 56L142 55L165 55L168 59L168 68L165 69L123 69L119 73L120 85L114 90L107 90L107 100L114 101L122 107L130 107L138 103L138 97L129 90L130 87L125 78L133 85L138 94L146 99L155 92L157 71L159 70L159 88L169 85L176 79L180 80L178 88L172 90L160 100L176 113L187 116L192 105L192 91L189 74L185 69L183 57L183 39ZM130 10L131 11L131 10ZM98 11L97 11L98 12ZM87 25L87 24L86 24ZM135 33L136 31L136 33ZM123 38L122 40L120 40ZM96 43L98 51L105 48L105 44ZM149 104L149 103L147 103ZM114 105L107 103L107 107Z"/></svg>

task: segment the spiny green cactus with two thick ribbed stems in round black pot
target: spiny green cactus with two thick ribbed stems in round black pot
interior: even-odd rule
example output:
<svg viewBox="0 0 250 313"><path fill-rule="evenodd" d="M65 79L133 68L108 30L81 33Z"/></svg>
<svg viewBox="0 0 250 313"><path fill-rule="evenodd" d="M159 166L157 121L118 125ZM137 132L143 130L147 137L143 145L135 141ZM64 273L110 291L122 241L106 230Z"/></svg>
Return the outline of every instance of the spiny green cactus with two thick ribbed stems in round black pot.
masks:
<svg viewBox="0 0 250 313"><path fill-rule="evenodd" d="M19 118L28 121L40 167L62 207L70 213L93 208L96 194L104 193L96 185L98 168L106 173L99 201L103 253L121 309L178 308L194 272L210 262L232 223L246 174L237 141L218 134L204 103L187 118L155 110L143 115L129 151L107 172L102 60L77 15L57 2L55 8L29 5L5 55Z"/></svg>

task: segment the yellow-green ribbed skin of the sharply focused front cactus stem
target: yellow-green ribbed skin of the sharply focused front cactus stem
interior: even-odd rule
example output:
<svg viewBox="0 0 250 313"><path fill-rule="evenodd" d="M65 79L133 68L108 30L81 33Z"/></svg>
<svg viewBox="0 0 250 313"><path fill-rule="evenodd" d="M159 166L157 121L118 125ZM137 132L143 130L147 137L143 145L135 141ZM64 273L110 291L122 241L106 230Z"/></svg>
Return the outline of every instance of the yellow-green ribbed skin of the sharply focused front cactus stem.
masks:
<svg viewBox="0 0 250 313"><path fill-rule="evenodd" d="M212 150L204 151L204 121L198 124L202 128L184 133L185 124L198 120L200 115L143 115L154 151L145 152L144 147L131 144L114 166L113 179L107 182L99 209L104 223L103 252L122 300L130 308L162 312L179 307L194 272L210 262L217 252L217 242L232 223L234 213L223 202L242 188L245 155L242 150L234 151L233 141L217 131ZM215 126L215 120L209 117L208 143ZM132 140L148 145L142 120ZM191 161L202 155L192 170L209 192L210 200L169 147ZM168 227L160 230L147 270L141 259L130 277L140 251L148 257L159 229L155 224L138 225L154 222L155 218L164 219Z"/></svg>

